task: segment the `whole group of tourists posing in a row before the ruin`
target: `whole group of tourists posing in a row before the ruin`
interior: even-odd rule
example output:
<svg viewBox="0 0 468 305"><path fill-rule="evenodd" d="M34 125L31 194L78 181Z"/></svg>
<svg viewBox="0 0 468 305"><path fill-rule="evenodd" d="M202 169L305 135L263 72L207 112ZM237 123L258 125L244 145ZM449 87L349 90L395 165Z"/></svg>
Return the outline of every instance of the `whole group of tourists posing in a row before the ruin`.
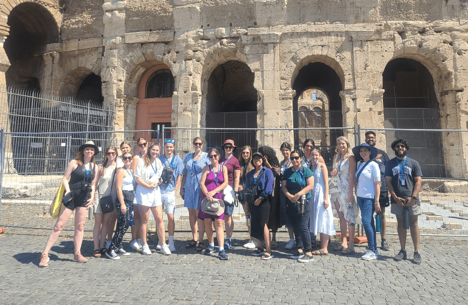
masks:
<svg viewBox="0 0 468 305"><path fill-rule="evenodd" d="M145 255L151 254L146 240L149 211L154 217L159 238L156 249L169 255L175 251L177 192L188 209L192 234L185 247L211 254L217 241L219 259L227 260L226 250L232 246L232 201L237 200L250 219L250 240L243 246L252 249L252 255L264 260L274 257L272 248L277 246L277 229L285 225L289 234L286 248L295 249L291 258L300 262L313 261L313 255L328 254L329 236L335 234L332 206L339 217L342 236L342 242L335 250L343 254L355 252L352 237L354 225L362 222L368 240L368 250L362 258L377 258L374 211L382 215L381 248L388 250L384 211L389 205L390 196L393 203L391 212L396 214L401 245L395 259L406 259L406 229L402 226L402 211L410 207L409 227L415 248L413 261L420 263L417 227L417 215L421 213L417 208L420 204L417 197L422 176L420 167L415 160L405 156L409 146L404 139L392 143L396 157L389 160L384 151L374 147L375 132L368 131L365 135L366 143L354 147L354 155L348 139L344 136L337 138L330 181L321 150L312 139L306 139L302 149L292 150L289 143L282 143L280 152L283 160L278 161L276 152L269 146L261 146L255 152L250 146L243 146L237 158L234 155L237 146L233 140L224 141L221 156L216 148L204 152L203 140L195 137L192 141L193 152L182 161L174 154L174 139L166 139L160 153L158 143L149 143L140 137L136 140L138 152L135 155L130 152L131 145L123 141L120 144L121 158L118 157L117 148L109 146L99 165L94 163L94 156L99 153L98 147L87 141L79 147L76 158L69 162L63 176L64 195L71 194L72 198L60 207L57 221L41 254L39 267L47 266L48 252L73 210L73 260L87 261L81 255L80 248L86 212L91 205L94 205L95 219L91 256L105 255L119 259L120 255L130 255L122 246L123 235L130 225L130 248L141 250ZM170 179L161 178L164 171L170 175ZM380 183L383 179L387 188ZM223 200L229 194L234 200ZM114 202L113 212L103 212L101 205L108 197ZM163 208L168 220L167 243ZM207 244L203 244L205 233ZM313 250L317 234L320 244Z"/></svg>

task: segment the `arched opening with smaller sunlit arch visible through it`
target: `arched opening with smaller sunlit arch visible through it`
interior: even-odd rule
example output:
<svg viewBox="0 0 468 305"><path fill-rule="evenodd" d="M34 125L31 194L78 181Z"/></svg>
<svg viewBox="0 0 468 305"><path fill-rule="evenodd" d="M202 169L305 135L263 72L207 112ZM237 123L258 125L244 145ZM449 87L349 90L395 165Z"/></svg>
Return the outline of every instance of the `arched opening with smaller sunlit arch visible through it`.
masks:
<svg viewBox="0 0 468 305"><path fill-rule="evenodd" d="M342 84L336 71L329 65L322 62L310 62L303 66L294 79L292 89L296 91L296 95L292 100L294 128L333 128L343 126L341 97L339 96L339 91L342 90ZM318 105L309 108L304 107L302 102L304 100L304 94L307 98L313 100L313 93L315 93L315 99L317 99L318 96L320 96L322 100L326 99L327 107L318 107ZM301 100L302 106L300 109L299 100ZM307 111L304 112L301 111L301 109L307 109ZM300 119L302 116L304 118L308 117L309 119ZM312 119L314 117L316 119ZM325 162L328 163L331 162L336 138L340 135L342 135L342 130L340 129L297 131L294 134L294 146L301 147L306 138L311 138L314 140L315 145L321 147L322 156Z"/></svg>

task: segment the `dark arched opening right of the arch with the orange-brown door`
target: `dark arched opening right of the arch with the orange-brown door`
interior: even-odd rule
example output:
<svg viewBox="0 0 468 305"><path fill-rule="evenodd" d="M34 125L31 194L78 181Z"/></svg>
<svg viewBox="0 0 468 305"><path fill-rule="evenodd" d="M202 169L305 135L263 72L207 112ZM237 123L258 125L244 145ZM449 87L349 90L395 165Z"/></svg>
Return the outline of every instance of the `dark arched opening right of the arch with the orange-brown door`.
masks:
<svg viewBox="0 0 468 305"><path fill-rule="evenodd" d="M258 93L253 86L254 73L247 64L229 60L218 65L208 78L206 127L256 128ZM255 131L207 132L208 147L219 147L227 138L236 145L257 147Z"/></svg>

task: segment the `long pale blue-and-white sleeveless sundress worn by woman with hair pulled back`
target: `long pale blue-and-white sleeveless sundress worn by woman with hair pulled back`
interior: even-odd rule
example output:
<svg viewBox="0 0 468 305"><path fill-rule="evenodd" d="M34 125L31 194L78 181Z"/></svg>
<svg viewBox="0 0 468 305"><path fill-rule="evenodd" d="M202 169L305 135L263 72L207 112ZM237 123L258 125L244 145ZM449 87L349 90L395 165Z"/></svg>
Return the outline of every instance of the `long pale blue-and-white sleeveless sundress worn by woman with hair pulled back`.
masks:
<svg viewBox="0 0 468 305"><path fill-rule="evenodd" d="M309 232L314 235L316 235L317 232L335 235L336 231L331 203L328 204L326 209L323 208L323 200L325 199L325 194L323 193L324 188L320 162L318 162L316 169L313 171L312 215L309 222ZM331 202L329 196L328 201Z"/></svg>

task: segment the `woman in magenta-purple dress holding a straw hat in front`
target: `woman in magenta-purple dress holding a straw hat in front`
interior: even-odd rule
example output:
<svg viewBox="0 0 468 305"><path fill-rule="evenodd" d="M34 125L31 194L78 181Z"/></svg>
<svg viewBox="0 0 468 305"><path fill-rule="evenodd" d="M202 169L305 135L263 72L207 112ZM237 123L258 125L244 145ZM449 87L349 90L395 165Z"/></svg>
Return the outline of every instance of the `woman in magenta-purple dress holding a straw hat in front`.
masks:
<svg viewBox="0 0 468 305"><path fill-rule="evenodd" d="M224 250L224 231L222 229L222 220L224 219L224 203L219 203L219 210L215 214L207 213L207 208L203 210L202 202L214 202L215 199L222 201L222 190L227 186L227 168L219 164L219 151L216 148L211 148L208 151L208 158L211 164L203 167L201 172L201 202L198 209L198 218L204 219L206 237L208 237L208 246L204 253L211 254L214 252L214 239L212 223L214 222L214 229L216 230L216 237L219 244L218 257L221 260L227 260L227 254ZM206 199L205 199L206 198ZM216 206L214 206L216 207ZM222 212L220 212L222 210Z"/></svg>

